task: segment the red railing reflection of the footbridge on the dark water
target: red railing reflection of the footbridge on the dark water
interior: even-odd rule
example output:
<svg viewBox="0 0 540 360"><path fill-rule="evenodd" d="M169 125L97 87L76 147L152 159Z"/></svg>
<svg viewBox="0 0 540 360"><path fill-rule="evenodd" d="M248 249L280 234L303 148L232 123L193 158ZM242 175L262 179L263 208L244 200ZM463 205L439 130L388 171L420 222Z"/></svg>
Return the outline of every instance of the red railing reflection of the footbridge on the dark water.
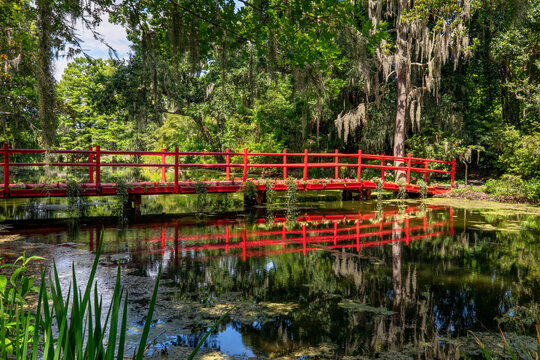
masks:
<svg viewBox="0 0 540 360"><path fill-rule="evenodd" d="M427 212L443 210L447 219L428 222ZM204 252L206 255L215 255L213 252L224 251L241 256L243 260L248 257L261 257L290 252L302 252L322 249L355 248L360 251L364 247L380 246L392 242L405 242L428 239L442 235L453 235L452 208L427 206L426 212L419 216L418 207L408 207L404 212L399 210L385 211L379 217L374 213L367 214L341 214L341 215L314 215L299 216L297 220L301 228L288 229L286 218L275 218L274 223L279 229L273 230L246 230L245 224L240 231L235 231L238 224L227 220L207 224L205 231L220 230L217 233L185 234L178 222L156 224L154 228L161 230L161 236L146 238L142 242L146 245L138 250L130 249L130 253L173 253L178 260L179 254L183 256ZM446 213L448 211L448 213ZM373 222L373 220L376 220ZM354 225L349 225L354 221ZM367 221L364 223L364 221ZM259 222L264 222L260 219ZM345 226L340 226L344 224ZM398 226L395 226L398 225ZM324 227L321 227L324 226ZM146 225L146 227L152 227ZM170 229L169 231L167 231ZM232 230L231 230L232 229ZM167 232L174 231L174 235ZM97 237L96 237L97 238ZM374 240L372 238L377 238ZM365 241L367 239L367 241ZM198 244L203 242L203 244ZM140 241L138 241L140 243ZM94 246L94 234L90 232L90 247ZM264 249L263 249L264 248ZM107 251L105 250L104 253ZM210 253L209 253L210 252Z"/></svg>

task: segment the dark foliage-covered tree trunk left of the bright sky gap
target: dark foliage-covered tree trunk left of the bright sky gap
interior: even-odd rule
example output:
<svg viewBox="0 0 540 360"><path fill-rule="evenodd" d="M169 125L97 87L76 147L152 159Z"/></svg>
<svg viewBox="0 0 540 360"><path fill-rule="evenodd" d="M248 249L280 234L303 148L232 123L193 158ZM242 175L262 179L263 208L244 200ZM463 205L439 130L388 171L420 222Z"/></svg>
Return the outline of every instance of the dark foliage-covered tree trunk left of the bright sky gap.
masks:
<svg viewBox="0 0 540 360"><path fill-rule="evenodd" d="M54 145L57 128L56 92L52 65L52 26L51 2L38 0L38 54L36 87L38 94L38 116L41 124L41 142L46 149Z"/></svg>

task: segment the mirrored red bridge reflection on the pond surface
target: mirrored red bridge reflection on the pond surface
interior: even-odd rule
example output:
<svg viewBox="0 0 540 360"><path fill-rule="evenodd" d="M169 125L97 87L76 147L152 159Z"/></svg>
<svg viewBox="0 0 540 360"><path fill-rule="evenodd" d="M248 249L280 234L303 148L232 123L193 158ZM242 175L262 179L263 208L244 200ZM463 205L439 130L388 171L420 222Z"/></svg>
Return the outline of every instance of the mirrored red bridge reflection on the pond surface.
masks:
<svg viewBox="0 0 540 360"><path fill-rule="evenodd" d="M130 225L129 252L167 254L179 259L238 256L244 261L285 253L333 251L381 246L453 235L452 208L442 206L408 206L367 213L305 214L295 218L271 217L246 221L244 218L209 219L201 223L193 219L176 219ZM433 216L445 213L445 217ZM99 225L83 228L88 231L88 244L94 250L99 239ZM141 238L142 235L142 238ZM112 244L111 244L112 245ZM105 244L103 254L117 253Z"/></svg>

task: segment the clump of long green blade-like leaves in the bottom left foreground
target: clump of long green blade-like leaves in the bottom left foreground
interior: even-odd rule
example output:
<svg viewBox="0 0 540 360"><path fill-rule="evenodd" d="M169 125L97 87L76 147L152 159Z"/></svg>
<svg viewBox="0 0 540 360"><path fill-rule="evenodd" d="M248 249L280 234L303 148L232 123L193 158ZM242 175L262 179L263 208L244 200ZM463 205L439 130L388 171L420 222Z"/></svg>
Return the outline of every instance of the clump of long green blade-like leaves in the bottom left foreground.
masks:
<svg viewBox="0 0 540 360"><path fill-rule="evenodd" d="M120 286L121 267L118 266L111 304L104 312L97 283L94 284L102 244L103 232L84 293L81 293L77 285L74 265L72 266L73 282L69 286L67 294L64 293L60 285L56 264L53 265L53 274L49 274L48 278L50 292L46 288L45 272L41 272L41 285L35 314L26 310L27 306L21 300L24 299L23 290L37 291L35 287L32 287L32 280L22 276L19 280L22 286L19 287L13 285L12 280L17 279L17 276L25 269L26 263L36 257L24 260L23 266L15 270L10 278L12 288L7 293L8 297L5 297L7 279L0 277L0 290L3 293L2 301L0 301L0 356L3 359L35 360L38 352L43 354L43 359L113 360L124 358L128 294L126 291L124 295L124 290ZM146 349L160 278L161 267L154 285L139 346L133 354L133 358L137 360L143 358ZM17 283L15 282L15 284ZM4 300L10 298L16 299L16 301L9 300L7 306L4 306ZM122 299L123 306L120 309ZM12 316L13 314L14 316ZM122 315L121 321L120 315ZM105 322L102 323L104 316L106 316ZM6 329L10 329L10 325L14 330L6 331ZM105 336L107 333L108 337ZM15 334L14 337L13 334ZM56 337L55 334L57 334Z"/></svg>

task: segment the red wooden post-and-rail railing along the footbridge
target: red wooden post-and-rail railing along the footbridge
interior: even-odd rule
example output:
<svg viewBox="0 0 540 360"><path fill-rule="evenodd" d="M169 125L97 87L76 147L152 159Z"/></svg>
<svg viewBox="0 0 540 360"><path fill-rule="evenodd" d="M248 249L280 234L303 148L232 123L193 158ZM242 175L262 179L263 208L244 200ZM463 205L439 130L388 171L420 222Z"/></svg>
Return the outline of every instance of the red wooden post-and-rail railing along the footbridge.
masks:
<svg viewBox="0 0 540 360"><path fill-rule="evenodd" d="M14 162L10 161L10 155L13 154L63 154L71 155L73 159L87 159L86 161L66 161L66 162ZM174 170L174 185L177 188L179 182L179 170L182 168L199 169L225 169L225 179L231 180L231 169L240 169L242 171L242 182L247 181L248 169L267 168L281 170L283 179L288 177L288 169L300 169L302 171L302 180L308 180L308 169L312 168L334 168L334 179L345 179L340 177L340 168L352 168L356 170L356 180L362 180L363 169L378 169L381 171L381 179L385 181L388 171L403 171L406 173L406 183L411 183L411 174L419 173L424 176L424 181L428 183L429 174L449 174L450 187L454 186L456 160L450 161L423 159L412 157L408 154L406 157L391 155L373 155L364 154L361 150L356 154L342 154L336 149L333 153L310 153L307 149L301 153L289 153L286 149L281 153L262 153L248 152L244 149L242 152L231 152L226 149L224 152L180 152L178 147L174 151L119 151L119 150L101 150L100 146L95 149L91 146L88 150L43 150L43 149L10 149L8 144L4 144L2 151L3 162L0 166L3 168L4 193L9 191L9 174L11 167L24 166L54 166L54 167L87 167L88 183L94 183L99 186L101 183L102 167L150 167L161 168L161 181L166 182L168 168ZM159 162L140 163L140 162L104 162L106 156L155 156L160 159ZM224 159L224 163L185 163L180 161L184 156L213 156ZM232 162L232 158L241 159L240 162ZM272 159L267 163L254 162L253 159ZM291 162L291 158L301 158L301 162ZM170 161L172 159L172 162ZM250 161L250 159L252 161ZM320 162L310 160L317 159ZM167 161L169 160L169 162ZM114 157L113 157L114 161ZM271 162L273 161L273 162ZM434 166L435 165L435 166ZM446 166L449 170L435 168L436 166Z"/></svg>

